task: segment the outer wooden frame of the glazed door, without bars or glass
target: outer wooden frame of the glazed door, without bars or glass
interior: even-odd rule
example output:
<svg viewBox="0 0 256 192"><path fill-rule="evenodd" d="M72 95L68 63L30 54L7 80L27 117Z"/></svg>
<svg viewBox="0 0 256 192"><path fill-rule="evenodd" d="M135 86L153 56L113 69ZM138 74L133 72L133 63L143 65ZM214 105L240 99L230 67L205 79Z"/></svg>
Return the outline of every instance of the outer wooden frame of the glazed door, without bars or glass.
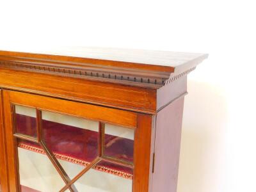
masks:
<svg viewBox="0 0 256 192"><path fill-rule="evenodd" d="M9 90L3 90L3 104L5 117L4 131L6 132L6 147L8 151L8 179L10 183L8 191L19 191L17 145L13 137L13 104L29 106L40 111L54 111L54 113L73 115L89 120L97 120L103 124L108 123L134 129L134 175L132 191L148 191L150 156L152 154L150 151L152 135L151 115Z"/></svg>

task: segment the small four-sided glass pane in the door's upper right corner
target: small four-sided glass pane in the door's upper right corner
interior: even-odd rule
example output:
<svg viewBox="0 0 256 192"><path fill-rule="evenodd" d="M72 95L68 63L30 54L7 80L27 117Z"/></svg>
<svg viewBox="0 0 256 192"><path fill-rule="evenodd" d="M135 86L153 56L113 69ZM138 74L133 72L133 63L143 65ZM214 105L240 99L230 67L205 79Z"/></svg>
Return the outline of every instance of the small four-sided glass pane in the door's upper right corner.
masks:
<svg viewBox="0 0 256 192"><path fill-rule="evenodd" d="M104 155L133 162L134 129L105 125Z"/></svg>

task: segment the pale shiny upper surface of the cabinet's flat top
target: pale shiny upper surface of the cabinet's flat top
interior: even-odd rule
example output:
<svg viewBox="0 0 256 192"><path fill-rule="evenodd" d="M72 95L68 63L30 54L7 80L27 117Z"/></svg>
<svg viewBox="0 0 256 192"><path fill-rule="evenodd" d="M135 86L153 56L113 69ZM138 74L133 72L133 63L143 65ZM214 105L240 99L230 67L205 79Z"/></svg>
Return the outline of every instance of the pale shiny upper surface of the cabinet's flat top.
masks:
<svg viewBox="0 0 256 192"><path fill-rule="evenodd" d="M176 67L189 64L195 60L204 60L207 58L207 54L200 53L188 53L188 52L171 52L171 51L152 51L152 50L140 50L140 49L117 49L117 48L100 48L100 47L64 47L59 49L49 50L29 50L24 51L0 51L0 55L9 56L22 56L19 54L23 52L29 52L34 54L45 54L54 56L70 56L76 58L87 58L96 60L116 61L116 67L118 61L125 63L133 63L134 68L139 65L147 65L150 70L152 65L163 67L162 69L172 72ZM30 56L29 56L30 57ZM132 65L130 66L132 67Z"/></svg>

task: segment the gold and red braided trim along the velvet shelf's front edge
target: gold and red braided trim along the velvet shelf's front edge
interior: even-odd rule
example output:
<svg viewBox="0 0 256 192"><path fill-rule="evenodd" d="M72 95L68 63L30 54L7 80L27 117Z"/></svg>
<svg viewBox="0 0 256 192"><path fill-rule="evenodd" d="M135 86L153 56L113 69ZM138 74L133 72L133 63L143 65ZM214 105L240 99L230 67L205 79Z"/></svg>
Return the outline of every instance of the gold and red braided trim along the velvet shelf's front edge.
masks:
<svg viewBox="0 0 256 192"><path fill-rule="evenodd" d="M33 152L37 152L39 154L45 154L45 152L42 148L33 147L31 145L26 145L24 143L19 143L18 147L24 148L26 150L31 150ZM61 159L63 161L68 161L68 162L74 163L74 164L79 164L81 166L88 166L88 164L90 164L90 162L88 162L88 161L83 161L81 159L76 159L74 157L69 157L69 156L65 156L65 155L61 155L61 154L57 154L57 153L53 153L53 154L57 159ZM110 174L113 174L113 175L117 175L119 177L124 177L125 179L132 179L132 177L133 177L132 174L125 173L125 172L120 172L118 170L107 168L106 166L95 165L95 166L93 166L93 169L98 170L100 172L105 172L105 173L110 173Z"/></svg>

